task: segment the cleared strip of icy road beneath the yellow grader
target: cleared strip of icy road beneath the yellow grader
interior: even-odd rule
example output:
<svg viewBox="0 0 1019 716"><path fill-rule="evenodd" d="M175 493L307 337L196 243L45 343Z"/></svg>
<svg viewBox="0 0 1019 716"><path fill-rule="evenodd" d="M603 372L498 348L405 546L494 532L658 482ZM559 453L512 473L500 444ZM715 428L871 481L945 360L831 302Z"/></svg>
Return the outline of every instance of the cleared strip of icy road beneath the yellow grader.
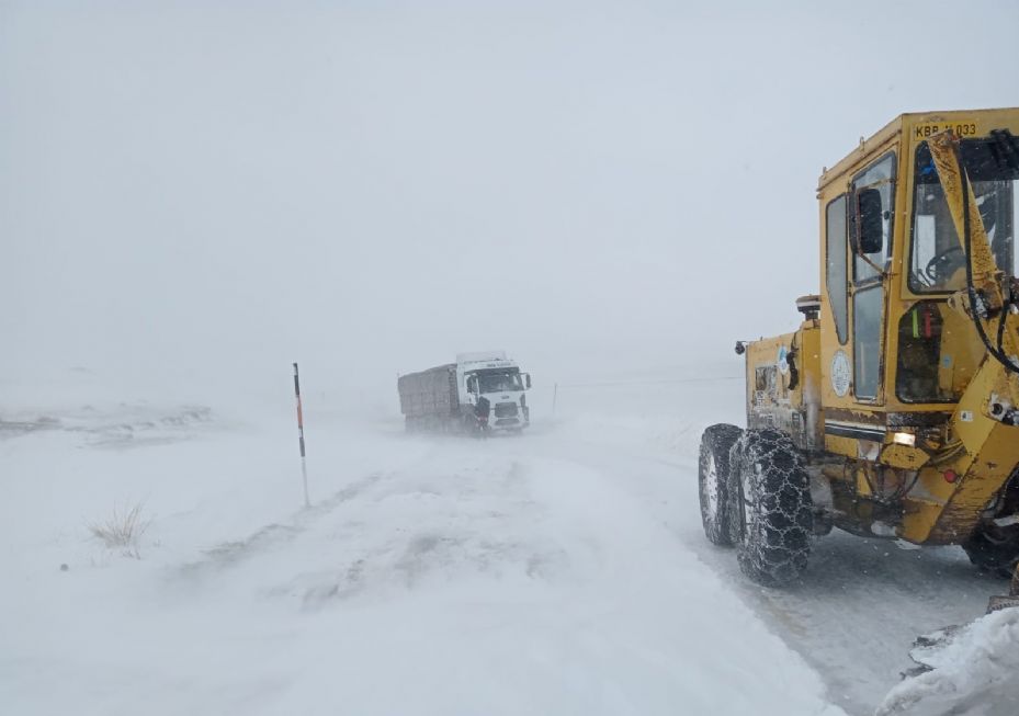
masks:
<svg viewBox="0 0 1019 716"><path fill-rule="evenodd" d="M657 435L658 450L654 441L641 445L638 431ZM548 435L542 442L587 464L612 466L648 514L805 659L824 680L828 698L848 713L873 713L901 674L916 667L908 651L918 635L967 623L984 613L990 594L1007 592L1006 581L978 572L958 547L921 549L838 530L815 541L796 586L754 584L731 549L704 537L695 492L699 435L700 425L669 432L650 422L620 421L598 441L575 436L570 447L563 435Z"/></svg>

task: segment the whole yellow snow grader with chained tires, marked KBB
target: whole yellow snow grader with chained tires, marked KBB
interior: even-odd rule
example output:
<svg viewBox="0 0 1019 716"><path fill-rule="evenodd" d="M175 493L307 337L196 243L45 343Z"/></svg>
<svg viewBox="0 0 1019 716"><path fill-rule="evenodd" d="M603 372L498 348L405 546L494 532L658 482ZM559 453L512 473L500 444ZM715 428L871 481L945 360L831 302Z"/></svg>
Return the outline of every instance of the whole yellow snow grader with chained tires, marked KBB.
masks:
<svg viewBox="0 0 1019 716"><path fill-rule="evenodd" d="M795 332L736 344L747 428L701 441L707 538L769 586L833 526L958 544L1011 575L1019 109L903 114L826 168L817 197L820 294L796 302Z"/></svg>

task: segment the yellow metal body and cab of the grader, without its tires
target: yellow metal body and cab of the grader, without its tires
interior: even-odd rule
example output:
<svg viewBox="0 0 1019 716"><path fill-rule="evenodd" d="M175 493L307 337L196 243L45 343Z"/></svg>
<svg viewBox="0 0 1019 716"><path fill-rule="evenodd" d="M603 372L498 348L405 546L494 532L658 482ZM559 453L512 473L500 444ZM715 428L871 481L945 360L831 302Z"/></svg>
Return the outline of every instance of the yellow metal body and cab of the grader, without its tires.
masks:
<svg viewBox="0 0 1019 716"><path fill-rule="evenodd" d="M1012 277L995 265L955 159L960 139L992 130L1019 136L1019 109L904 114L826 169L817 190L819 306L804 311L794 333L746 346L748 427L793 435L830 484L835 524L845 529L960 543L1017 473L1019 427L1003 421L1000 409L1019 406L1019 375L988 353L973 319L975 311L996 339L1004 307L1004 352L1019 354L1019 316L1007 310ZM932 166L921 166L921 156ZM915 173L931 170L937 179L924 181L940 181L941 215L920 220L915 204L927 196ZM883 201L882 250L869 254L859 241L867 192ZM966 198L975 308L964 272L941 269L963 253ZM927 257L910 252L913 232L935 220L951 220L960 246L927 264L944 272L943 288L931 291L913 283ZM939 399L908 399L925 391Z"/></svg>

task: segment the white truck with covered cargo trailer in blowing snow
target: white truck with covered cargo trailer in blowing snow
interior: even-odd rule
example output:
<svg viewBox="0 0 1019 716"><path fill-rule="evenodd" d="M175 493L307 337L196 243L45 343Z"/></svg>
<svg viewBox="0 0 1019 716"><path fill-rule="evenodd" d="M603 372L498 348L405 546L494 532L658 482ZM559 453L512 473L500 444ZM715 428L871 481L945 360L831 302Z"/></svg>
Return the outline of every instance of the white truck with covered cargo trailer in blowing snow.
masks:
<svg viewBox="0 0 1019 716"><path fill-rule="evenodd" d="M531 422L531 376L506 351L460 353L446 363L397 379L407 430L520 432Z"/></svg>

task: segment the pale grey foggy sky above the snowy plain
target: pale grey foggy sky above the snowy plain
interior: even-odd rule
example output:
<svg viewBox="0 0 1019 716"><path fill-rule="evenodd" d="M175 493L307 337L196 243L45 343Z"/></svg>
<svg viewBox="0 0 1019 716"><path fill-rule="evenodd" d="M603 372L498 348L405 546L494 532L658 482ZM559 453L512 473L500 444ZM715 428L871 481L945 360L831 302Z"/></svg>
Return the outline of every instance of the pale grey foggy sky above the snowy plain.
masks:
<svg viewBox="0 0 1019 716"><path fill-rule="evenodd" d="M1012 2L683 4L0 0L0 373L738 372L823 166L1019 103Z"/></svg>

